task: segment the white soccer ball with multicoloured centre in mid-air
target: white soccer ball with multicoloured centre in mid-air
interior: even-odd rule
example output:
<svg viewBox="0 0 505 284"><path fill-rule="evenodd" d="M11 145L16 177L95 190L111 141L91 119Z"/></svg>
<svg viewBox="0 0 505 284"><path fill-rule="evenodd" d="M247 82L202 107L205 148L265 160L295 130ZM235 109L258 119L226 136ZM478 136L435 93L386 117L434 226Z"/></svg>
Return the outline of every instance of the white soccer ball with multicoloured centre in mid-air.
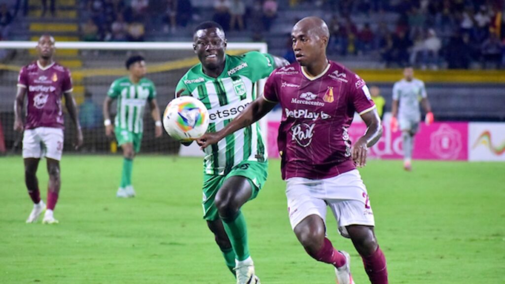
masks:
<svg viewBox="0 0 505 284"><path fill-rule="evenodd" d="M209 111L198 99L183 96L172 100L163 113L165 131L178 141L191 141L209 127Z"/></svg>

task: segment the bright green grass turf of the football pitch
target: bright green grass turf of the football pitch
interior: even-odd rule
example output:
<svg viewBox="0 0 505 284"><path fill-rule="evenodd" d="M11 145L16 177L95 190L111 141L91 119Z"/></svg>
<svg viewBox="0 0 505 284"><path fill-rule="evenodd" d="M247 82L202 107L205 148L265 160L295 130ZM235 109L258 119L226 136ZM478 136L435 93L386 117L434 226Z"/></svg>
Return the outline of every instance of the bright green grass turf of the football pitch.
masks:
<svg viewBox="0 0 505 284"><path fill-rule="evenodd" d="M134 199L115 197L119 156L64 156L58 225L25 224L31 202L21 157L0 158L0 283L233 283L201 219L201 161L139 156ZM42 161L45 162L45 161ZM255 201L244 206L251 255L264 284L333 283L311 259L287 218L279 162ZM369 161L361 170L386 255L390 283L505 283L505 165ZM47 174L39 167L45 200ZM332 215L328 234L352 258Z"/></svg>

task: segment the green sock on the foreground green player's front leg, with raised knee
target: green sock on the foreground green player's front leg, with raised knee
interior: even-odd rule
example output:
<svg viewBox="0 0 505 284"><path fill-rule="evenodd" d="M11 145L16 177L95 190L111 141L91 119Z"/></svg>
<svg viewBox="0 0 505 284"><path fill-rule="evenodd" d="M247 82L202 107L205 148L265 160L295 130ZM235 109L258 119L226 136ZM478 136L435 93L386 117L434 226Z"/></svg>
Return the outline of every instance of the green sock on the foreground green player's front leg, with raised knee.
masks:
<svg viewBox="0 0 505 284"><path fill-rule="evenodd" d="M221 218L223 227L230 239L231 246L235 251L238 261L245 260L249 255L249 244L247 243L247 227L245 218L240 210L230 219Z"/></svg>

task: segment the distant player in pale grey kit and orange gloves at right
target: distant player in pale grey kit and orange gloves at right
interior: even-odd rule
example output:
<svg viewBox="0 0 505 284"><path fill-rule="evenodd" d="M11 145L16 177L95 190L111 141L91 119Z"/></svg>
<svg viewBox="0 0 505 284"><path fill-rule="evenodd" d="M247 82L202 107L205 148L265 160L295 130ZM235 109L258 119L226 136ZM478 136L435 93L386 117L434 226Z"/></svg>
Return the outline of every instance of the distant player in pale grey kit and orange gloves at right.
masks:
<svg viewBox="0 0 505 284"><path fill-rule="evenodd" d="M433 113L426 94L424 82L414 78L414 69L403 69L403 79L394 83L393 106L391 109L391 130L398 130L398 121L403 139L403 168L412 170L412 151L414 149L414 135L419 130L421 112L419 100L426 112L425 122L427 125L433 122Z"/></svg>

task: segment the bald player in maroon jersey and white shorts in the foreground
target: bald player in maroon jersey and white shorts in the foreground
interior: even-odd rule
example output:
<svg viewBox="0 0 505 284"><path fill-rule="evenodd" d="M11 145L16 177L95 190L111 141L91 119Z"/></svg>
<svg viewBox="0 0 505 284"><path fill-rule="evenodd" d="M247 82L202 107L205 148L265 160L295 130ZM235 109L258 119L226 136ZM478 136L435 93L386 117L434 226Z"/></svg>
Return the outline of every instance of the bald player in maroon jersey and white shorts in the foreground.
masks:
<svg viewBox="0 0 505 284"><path fill-rule="evenodd" d="M263 97L221 131L197 140L201 148L255 122L280 104L278 147L286 180L289 220L298 241L318 261L335 267L339 284L354 283L349 255L325 237L326 206L341 235L350 238L373 284L387 283L386 259L374 232L367 190L356 167L382 134L381 121L365 81L326 57L329 32L317 17L300 20L291 31L297 63L276 69ZM351 147L347 129L358 112L368 128Z"/></svg>

